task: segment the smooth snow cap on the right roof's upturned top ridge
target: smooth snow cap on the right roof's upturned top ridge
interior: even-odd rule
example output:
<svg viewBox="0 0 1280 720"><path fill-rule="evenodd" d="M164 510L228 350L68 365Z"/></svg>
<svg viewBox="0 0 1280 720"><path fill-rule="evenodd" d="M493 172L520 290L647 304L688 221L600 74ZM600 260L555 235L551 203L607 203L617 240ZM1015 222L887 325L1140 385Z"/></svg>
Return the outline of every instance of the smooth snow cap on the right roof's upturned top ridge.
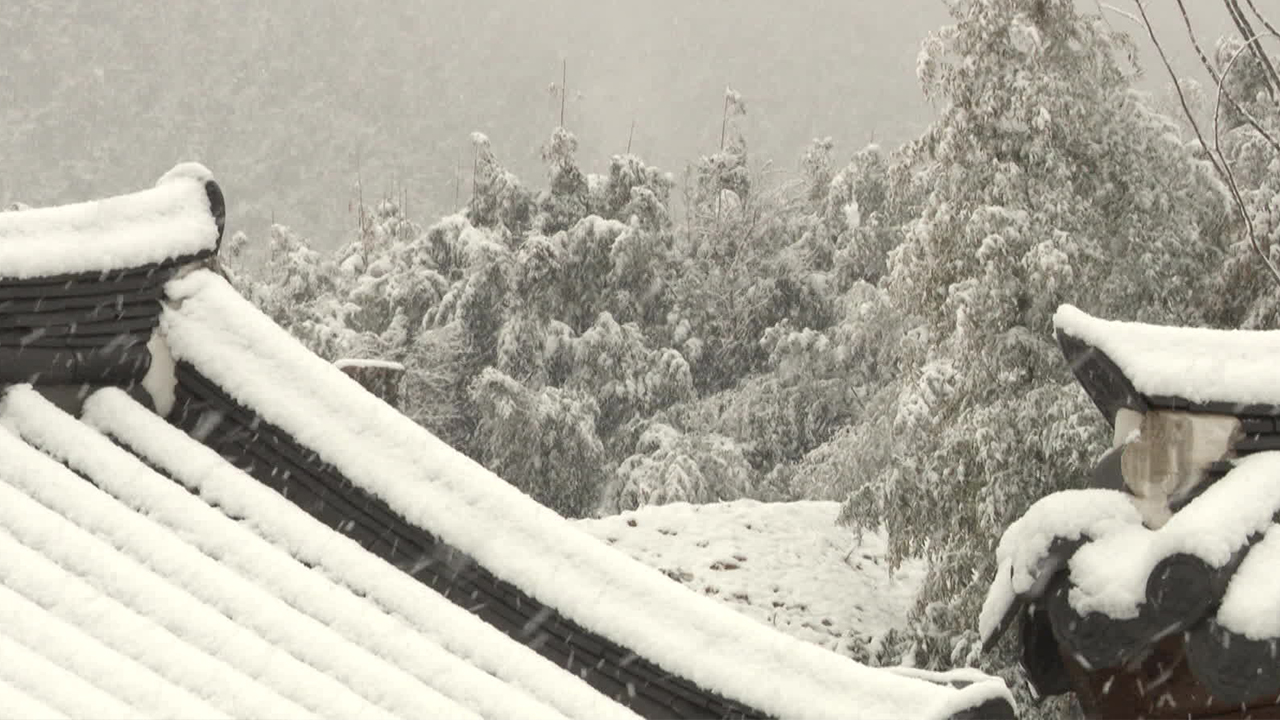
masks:
<svg viewBox="0 0 1280 720"><path fill-rule="evenodd" d="M1144 395L1192 402L1280 404L1280 331L1224 331L1102 320L1062 305L1062 333L1097 347Z"/></svg>

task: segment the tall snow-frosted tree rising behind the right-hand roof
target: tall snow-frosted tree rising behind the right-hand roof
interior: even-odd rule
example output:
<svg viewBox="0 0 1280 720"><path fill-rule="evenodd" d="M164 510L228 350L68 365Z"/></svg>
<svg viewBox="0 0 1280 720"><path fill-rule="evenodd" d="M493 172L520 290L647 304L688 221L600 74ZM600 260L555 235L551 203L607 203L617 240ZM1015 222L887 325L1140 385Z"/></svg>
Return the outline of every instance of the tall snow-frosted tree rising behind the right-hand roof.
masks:
<svg viewBox="0 0 1280 720"><path fill-rule="evenodd" d="M950 9L918 63L940 118L904 150L906 174L902 161L884 174L892 202L919 204L882 282L902 318L879 386L893 400L837 438L851 457L824 456L864 470L849 520L884 523L893 557L932 560L901 650L937 665L978 660L995 538L1036 498L1082 484L1106 443L1053 311L1197 320L1187 297L1207 287L1226 218L1204 164L1130 92L1128 40L1100 17L1069 0ZM856 200L855 234L872 223Z"/></svg>

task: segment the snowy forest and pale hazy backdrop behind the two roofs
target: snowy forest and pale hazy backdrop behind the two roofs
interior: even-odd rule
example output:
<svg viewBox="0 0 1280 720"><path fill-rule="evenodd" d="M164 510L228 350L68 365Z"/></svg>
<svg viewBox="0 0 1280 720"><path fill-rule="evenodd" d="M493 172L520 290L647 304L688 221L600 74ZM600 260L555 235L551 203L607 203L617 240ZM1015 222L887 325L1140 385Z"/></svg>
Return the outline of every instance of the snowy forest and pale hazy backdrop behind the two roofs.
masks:
<svg viewBox="0 0 1280 720"><path fill-rule="evenodd" d="M1231 4L1203 60L1153 9L1170 76L1132 3L33 1L0 200L205 161L242 292L454 447L568 516L838 500L929 564L854 655L1012 678L995 544L1108 439L1055 309L1276 327L1280 36Z"/></svg>

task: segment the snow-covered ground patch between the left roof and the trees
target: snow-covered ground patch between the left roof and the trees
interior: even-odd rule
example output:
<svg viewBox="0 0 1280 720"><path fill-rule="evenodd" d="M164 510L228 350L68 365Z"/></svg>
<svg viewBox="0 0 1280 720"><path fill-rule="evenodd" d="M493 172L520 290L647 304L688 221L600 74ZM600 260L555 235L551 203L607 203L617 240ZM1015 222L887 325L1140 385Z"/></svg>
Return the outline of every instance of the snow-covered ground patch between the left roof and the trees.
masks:
<svg viewBox="0 0 1280 720"><path fill-rule="evenodd" d="M796 638L859 657L901 628L924 565L890 570L884 534L836 524L837 502L655 505L579 527Z"/></svg>

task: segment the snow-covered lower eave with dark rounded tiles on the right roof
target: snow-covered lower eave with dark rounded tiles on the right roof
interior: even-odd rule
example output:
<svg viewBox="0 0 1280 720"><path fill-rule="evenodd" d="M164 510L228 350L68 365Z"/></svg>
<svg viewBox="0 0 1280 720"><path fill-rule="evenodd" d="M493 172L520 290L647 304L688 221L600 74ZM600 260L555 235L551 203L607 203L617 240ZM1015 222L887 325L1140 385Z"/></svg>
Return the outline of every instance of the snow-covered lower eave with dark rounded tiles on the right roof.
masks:
<svg viewBox="0 0 1280 720"><path fill-rule="evenodd" d="M1158 529L1142 524L1133 500L1062 491L1011 524L983 606L986 646L1036 602L1047 609L1055 642L1088 670L1119 667L1187 630L1192 670L1211 694L1274 697L1274 671L1243 684L1236 678L1276 662L1280 452L1235 461ZM1064 541L1071 544L1055 555Z"/></svg>

